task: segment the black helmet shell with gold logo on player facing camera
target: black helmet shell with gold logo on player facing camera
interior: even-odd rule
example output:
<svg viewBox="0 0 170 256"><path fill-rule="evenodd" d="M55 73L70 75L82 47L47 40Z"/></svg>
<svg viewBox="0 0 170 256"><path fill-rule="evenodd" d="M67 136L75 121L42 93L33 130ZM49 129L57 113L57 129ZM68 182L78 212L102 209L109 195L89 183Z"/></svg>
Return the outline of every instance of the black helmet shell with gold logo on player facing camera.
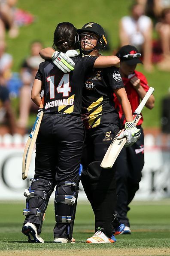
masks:
<svg viewBox="0 0 170 256"><path fill-rule="evenodd" d="M77 34L81 34L83 32L90 32L93 34L96 34L99 37L105 37L105 32L104 29L102 28L102 26L100 26L99 24L95 23L95 22L89 22L86 23L82 29L77 29Z"/></svg>

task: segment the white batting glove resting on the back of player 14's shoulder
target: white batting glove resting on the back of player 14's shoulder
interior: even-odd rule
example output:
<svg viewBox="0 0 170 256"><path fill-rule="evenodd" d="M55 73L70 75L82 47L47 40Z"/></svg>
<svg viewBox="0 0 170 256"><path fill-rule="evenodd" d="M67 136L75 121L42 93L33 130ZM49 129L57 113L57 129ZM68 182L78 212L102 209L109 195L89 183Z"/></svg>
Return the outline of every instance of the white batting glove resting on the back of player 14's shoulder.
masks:
<svg viewBox="0 0 170 256"><path fill-rule="evenodd" d="M74 70L75 63L66 53L54 52L52 54L52 61L64 73Z"/></svg>

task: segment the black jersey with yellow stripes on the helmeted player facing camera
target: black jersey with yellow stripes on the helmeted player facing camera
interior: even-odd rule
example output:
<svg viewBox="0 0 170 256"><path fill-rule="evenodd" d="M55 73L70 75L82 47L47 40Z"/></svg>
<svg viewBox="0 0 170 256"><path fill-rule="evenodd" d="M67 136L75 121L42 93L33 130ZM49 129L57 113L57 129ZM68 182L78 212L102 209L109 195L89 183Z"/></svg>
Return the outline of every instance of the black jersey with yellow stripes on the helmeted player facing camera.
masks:
<svg viewBox="0 0 170 256"><path fill-rule="evenodd" d="M83 85L82 120L86 129L102 123L120 125L113 91L123 87L118 68L93 69Z"/></svg>

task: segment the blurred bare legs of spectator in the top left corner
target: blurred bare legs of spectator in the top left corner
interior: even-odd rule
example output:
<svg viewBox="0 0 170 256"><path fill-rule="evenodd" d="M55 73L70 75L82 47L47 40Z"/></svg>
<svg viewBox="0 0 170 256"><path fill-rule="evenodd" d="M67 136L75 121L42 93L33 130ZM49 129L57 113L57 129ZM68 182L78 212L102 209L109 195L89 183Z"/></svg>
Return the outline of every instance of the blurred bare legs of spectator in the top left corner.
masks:
<svg viewBox="0 0 170 256"><path fill-rule="evenodd" d="M15 5L17 0L0 0L0 39L5 38L6 29L9 37L18 36L18 25L15 22Z"/></svg>

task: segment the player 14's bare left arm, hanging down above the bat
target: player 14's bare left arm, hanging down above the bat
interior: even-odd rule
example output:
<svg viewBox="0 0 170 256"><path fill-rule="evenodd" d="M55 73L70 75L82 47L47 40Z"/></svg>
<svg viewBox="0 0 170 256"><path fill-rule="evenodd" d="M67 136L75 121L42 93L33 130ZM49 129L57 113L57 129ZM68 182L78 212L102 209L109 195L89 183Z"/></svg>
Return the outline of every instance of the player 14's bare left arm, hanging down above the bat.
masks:
<svg viewBox="0 0 170 256"><path fill-rule="evenodd" d="M35 79L33 82L33 87L32 87L32 91L31 91L31 99L37 106L40 106L40 104L41 104L40 94L41 94L42 90L43 90L42 81L39 79Z"/></svg>

